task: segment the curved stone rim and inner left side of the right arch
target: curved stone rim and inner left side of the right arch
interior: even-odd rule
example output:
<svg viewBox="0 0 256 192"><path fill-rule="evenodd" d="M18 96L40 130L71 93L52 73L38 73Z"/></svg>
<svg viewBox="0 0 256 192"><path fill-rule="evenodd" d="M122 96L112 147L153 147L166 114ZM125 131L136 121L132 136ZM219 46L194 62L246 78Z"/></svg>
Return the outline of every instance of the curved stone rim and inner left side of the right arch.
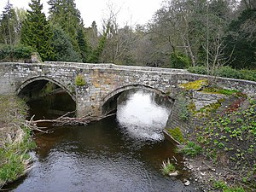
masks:
<svg viewBox="0 0 256 192"><path fill-rule="evenodd" d="M174 102L174 100L170 96L166 96L166 93L157 90L154 87L150 87L143 84L131 84L131 85L125 85L123 87L119 87L116 90L113 90L110 92L107 96L105 96L102 99L102 115L106 115L108 113L113 113L117 109L117 98L120 96L121 93L123 93L126 90L133 90L133 89L143 89L143 90L150 90L159 96L167 97L170 102Z"/></svg>

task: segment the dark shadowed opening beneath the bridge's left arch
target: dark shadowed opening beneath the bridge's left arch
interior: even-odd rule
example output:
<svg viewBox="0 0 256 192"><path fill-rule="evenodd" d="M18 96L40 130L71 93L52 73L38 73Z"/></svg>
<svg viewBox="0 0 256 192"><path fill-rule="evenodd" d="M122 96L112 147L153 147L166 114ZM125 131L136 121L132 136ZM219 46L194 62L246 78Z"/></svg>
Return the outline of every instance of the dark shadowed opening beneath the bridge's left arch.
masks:
<svg viewBox="0 0 256 192"><path fill-rule="evenodd" d="M29 116L35 116L35 119L58 118L67 112L74 112L77 108L76 97L71 91L47 77L26 80L16 93L29 106Z"/></svg>

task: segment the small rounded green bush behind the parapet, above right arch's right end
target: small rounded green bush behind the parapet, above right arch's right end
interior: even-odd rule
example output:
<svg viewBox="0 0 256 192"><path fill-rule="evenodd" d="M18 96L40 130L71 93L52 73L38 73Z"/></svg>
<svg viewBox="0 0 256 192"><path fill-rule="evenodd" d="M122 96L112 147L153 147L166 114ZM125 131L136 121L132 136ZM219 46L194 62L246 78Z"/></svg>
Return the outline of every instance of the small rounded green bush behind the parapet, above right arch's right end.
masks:
<svg viewBox="0 0 256 192"><path fill-rule="evenodd" d="M189 57L179 52L173 52L171 54L170 62L172 68L188 68L190 66Z"/></svg>

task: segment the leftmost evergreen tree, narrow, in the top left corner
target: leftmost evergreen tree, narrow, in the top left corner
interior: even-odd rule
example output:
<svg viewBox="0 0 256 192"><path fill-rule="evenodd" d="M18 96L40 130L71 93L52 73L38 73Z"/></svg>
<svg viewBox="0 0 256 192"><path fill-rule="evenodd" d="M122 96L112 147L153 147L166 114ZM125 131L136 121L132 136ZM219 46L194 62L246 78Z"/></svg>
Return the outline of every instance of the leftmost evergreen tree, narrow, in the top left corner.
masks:
<svg viewBox="0 0 256 192"><path fill-rule="evenodd" d="M19 40L19 24L11 3L6 4L0 20L0 43L14 45Z"/></svg>

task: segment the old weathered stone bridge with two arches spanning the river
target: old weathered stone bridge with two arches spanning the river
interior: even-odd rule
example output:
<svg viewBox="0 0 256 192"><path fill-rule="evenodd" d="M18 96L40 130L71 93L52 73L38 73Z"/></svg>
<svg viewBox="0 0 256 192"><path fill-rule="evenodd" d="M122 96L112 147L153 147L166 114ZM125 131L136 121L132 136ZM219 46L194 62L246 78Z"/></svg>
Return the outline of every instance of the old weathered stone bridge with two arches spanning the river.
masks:
<svg viewBox="0 0 256 192"><path fill-rule="evenodd" d="M82 75L86 82L77 86L75 79ZM116 108L120 93L134 88L153 90L175 100L178 84L207 76L188 73L186 70L157 67L131 67L113 64L86 64L69 62L0 63L0 94L22 92L32 96L33 90L42 89L53 82L73 98L77 115L103 115ZM242 90L255 94L256 82L216 78L216 83L225 89Z"/></svg>

